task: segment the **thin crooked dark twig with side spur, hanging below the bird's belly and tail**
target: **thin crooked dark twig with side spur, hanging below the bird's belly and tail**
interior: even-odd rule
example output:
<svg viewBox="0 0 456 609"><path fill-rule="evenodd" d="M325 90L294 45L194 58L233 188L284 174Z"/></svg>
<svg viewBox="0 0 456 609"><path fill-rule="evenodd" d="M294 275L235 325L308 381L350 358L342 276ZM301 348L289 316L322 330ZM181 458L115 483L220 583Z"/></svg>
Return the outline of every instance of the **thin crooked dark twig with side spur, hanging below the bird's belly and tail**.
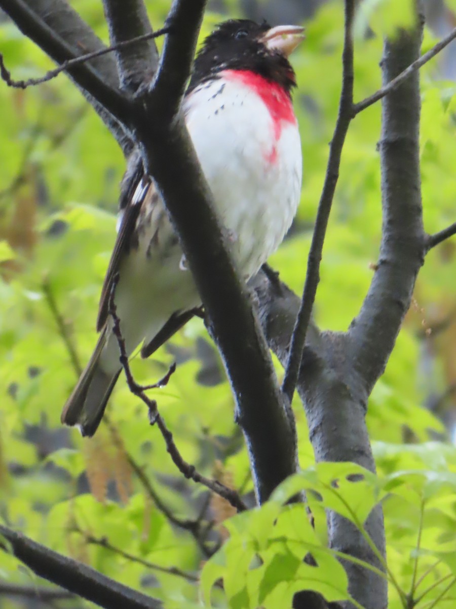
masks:
<svg viewBox="0 0 456 609"><path fill-rule="evenodd" d="M128 363L128 356L126 354L125 339L123 339L122 332L120 330L120 319L117 315L116 304L114 303L114 295L116 294L116 287L118 282L119 273L117 273L117 275L114 277L114 280L112 281L111 294L109 295L109 315L111 315L113 322L112 331L114 333L114 336L116 336L117 338L117 343L119 344L119 361L120 364L122 364L123 370L125 371L126 381L128 383L128 387L131 393L140 398L140 400L142 400L143 403L148 407L150 424L157 424L157 427L161 431L161 434L165 440L167 452L170 454L173 463L178 467L178 470L182 474L184 474L187 479L191 479L193 480L193 482L200 482L201 484L212 490L213 493L216 493L217 495L220 495L221 497L226 499L226 501L229 501L229 503L233 505L233 507L235 507L239 512L246 510L246 505L241 500L240 496L235 490L226 487L225 485L221 484L216 480L212 480L210 478L207 478L206 476L202 476L202 474L200 474L196 470L194 465L190 465L190 463L187 463L184 460L178 450L178 447L176 446L176 443L173 440L173 434L167 428L164 419L158 412L156 401L151 400L145 394L145 390L147 389L154 389L156 387L162 387L163 385L167 384L170 379L170 376L176 369L176 365L173 364L170 370L168 370L167 375L165 375L164 378L152 385L139 385L134 380L133 374L131 373L130 364Z"/></svg>

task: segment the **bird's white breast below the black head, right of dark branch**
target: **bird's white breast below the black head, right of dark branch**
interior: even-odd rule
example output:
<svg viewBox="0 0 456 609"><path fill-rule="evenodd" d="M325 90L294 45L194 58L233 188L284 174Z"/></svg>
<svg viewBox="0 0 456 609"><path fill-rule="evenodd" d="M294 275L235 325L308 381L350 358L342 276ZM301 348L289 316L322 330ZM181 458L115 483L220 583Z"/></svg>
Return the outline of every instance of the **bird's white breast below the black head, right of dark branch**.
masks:
<svg viewBox="0 0 456 609"><path fill-rule="evenodd" d="M284 122L277 138L261 97L223 77L193 91L184 110L216 210L232 233L233 255L249 277L278 247L299 204L297 124Z"/></svg>

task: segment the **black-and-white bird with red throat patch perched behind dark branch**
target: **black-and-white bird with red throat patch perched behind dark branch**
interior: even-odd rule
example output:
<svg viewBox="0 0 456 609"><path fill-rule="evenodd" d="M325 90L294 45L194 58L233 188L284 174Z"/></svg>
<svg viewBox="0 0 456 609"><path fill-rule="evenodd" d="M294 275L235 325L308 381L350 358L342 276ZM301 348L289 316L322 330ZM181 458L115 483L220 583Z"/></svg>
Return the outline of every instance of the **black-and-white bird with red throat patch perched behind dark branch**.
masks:
<svg viewBox="0 0 456 609"><path fill-rule="evenodd" d="M185 124L231 255L248 280L282 242L297 212L302 183L296 86L289 55L303 27L229 19L196 55L182 101ZM128 356L148 357L201 307L153 177L139 161L121 190L117 239L98 309L97 345L61 414L92 436L122 365L112 331L112 284Z"/></svg>

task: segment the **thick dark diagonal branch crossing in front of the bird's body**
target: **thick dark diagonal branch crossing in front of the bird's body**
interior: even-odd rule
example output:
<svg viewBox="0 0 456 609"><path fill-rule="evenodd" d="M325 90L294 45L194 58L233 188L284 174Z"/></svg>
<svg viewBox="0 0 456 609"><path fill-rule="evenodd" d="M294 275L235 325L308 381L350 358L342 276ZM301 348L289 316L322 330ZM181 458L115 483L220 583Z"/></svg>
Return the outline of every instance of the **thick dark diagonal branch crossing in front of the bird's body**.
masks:
<svg viewBox="0 0 456 609"><path fill-rule="evenodd" d="M145 167L164 195L223 355L257 497L263 502L296 469L294 423L283 403L249 291L233 267L226 239L221 238L212 194L184 119L174 114L190 72L204 4L203 0L174 2L167 22L172 34L166 38L157 78L138 99L137 138ZM154 116L161 121L154 121Z"/></svg>

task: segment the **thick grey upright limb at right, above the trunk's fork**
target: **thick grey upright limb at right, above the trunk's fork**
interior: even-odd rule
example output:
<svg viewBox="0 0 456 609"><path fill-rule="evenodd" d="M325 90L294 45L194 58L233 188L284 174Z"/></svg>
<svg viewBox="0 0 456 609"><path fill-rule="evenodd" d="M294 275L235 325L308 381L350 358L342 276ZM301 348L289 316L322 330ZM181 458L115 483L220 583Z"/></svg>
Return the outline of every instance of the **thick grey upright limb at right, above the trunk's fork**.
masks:
<svg viewBox="0 0 456 609"><path fill-rule="evenodd" d="M418 19L418 17L417 17ZM420 54L421 24L387 40L383 81L391 82ZM369 394L393 350L409 309L426 239L420 189L420 80L415 71L382 99L382 242L379 262L358 317L348 331L353 363Z"/></svg>

